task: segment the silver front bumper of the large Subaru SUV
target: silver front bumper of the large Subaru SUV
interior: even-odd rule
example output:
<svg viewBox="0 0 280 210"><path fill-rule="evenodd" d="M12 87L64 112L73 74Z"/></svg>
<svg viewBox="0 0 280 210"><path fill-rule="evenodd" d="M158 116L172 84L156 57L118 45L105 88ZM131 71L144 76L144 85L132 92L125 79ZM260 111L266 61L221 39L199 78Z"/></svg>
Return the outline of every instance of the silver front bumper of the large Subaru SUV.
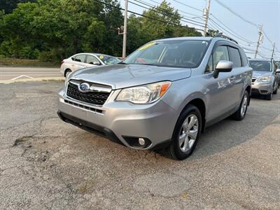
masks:
<svg viewBox="0 0 280 210"><path fill-rule="evenodd" d="M118 90L112 91L103 106L92 106L59 92L58 115L66 123L94 132L130 148L151 149L167 146L172 139L176 113L165 102L131 104L115 102ZM145 146L137 145L138 139ZM137 141L137 142L135 142Z"/></svg>

